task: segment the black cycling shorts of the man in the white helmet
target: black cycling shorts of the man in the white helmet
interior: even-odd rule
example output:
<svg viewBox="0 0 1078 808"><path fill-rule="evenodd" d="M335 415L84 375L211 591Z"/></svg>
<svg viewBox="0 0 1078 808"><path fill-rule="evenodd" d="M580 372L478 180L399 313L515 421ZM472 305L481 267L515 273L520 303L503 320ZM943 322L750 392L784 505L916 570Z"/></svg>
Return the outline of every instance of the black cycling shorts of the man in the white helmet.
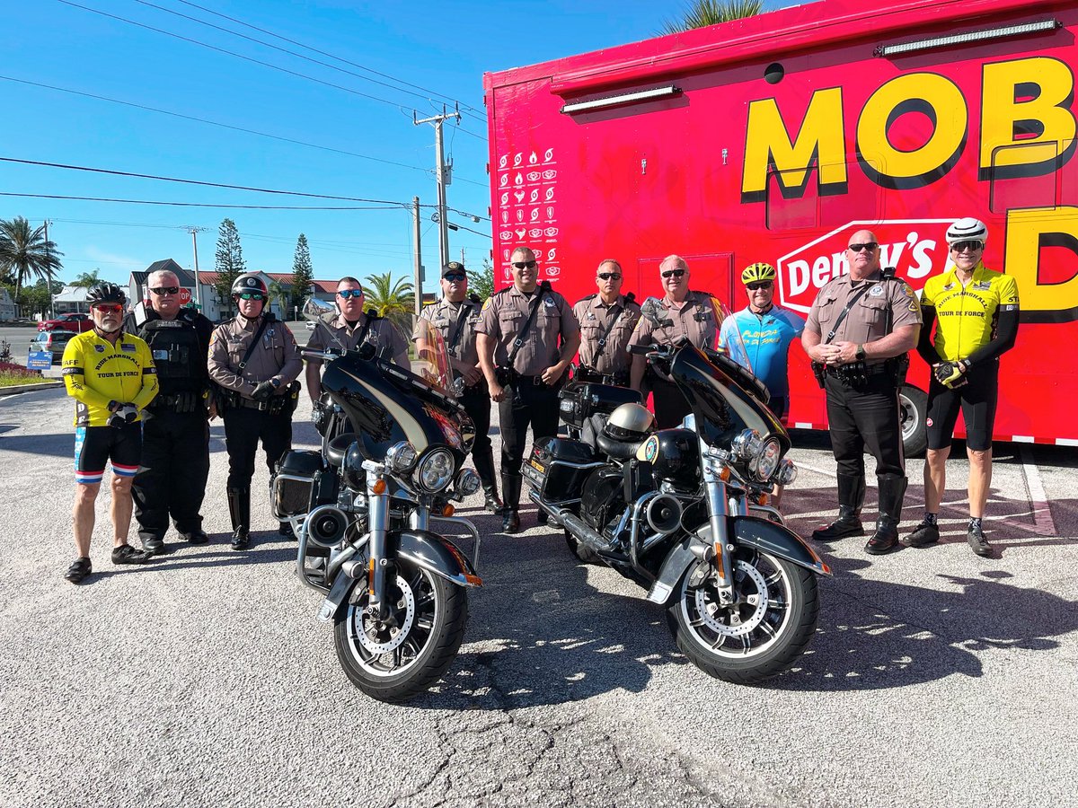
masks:
<svg viewBox="0 0 1078 808"><path fill-rule="evenodd" d="M951 389L935 377L928 385L928 448L942 449L951 445L958 409L966 422L966 446L975 451L992 448L992 430L996 422L996 399L999 393L999 363L972 367L966 374L967 384Z"/></svg>

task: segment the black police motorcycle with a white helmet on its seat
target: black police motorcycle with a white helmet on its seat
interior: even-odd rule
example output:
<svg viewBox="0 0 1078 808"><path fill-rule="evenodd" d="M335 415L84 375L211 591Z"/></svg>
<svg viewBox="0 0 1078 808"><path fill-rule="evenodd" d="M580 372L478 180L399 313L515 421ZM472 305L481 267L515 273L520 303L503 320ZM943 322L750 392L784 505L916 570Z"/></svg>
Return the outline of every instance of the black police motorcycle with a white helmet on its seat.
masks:
<svg viewBox="0 0 1078 808"><path fill-rule="evenodd" d="M655 310L645 303L645 316ZM784 458L790 440L764 403L766 389L730 359L733 348L645 349L692 407L677 429L655 431L647 410L624 403L633 391L568 385L561 412L577 437L538 441L524 472L529 497L570 546L668 607L693 664L751 684L785 670L808 644L815 575L831 571L763 504L797 470Z"/></svg>

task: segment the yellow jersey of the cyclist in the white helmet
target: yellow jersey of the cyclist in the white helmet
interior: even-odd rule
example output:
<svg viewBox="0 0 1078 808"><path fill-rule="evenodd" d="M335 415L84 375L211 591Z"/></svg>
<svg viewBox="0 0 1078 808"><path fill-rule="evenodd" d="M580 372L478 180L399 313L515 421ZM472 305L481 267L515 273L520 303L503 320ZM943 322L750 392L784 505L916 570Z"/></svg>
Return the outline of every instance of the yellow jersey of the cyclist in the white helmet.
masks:
<svg viewBox="0 0 1078 808"><path fill-rule="evenodd" d="M992 342L1000 311L1018 310L1018 283L979 263L963 287L952 268L925 281L921 306L936 309L939 358L955 362Z"/></svg>

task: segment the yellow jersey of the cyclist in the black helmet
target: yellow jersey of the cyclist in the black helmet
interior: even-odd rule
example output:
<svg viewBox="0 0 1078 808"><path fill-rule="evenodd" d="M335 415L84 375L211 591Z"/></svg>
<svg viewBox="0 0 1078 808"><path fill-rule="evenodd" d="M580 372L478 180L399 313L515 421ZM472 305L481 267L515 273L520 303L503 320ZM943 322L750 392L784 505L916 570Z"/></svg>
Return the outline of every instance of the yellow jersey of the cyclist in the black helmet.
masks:
<svg viewBox="0 0 1078 808"><path fill-rule="evenodd" d="M75 400L75 427L108 426L112 401L134 404L141 420L157 394L150 347L134 334L121 332L113 345L96 331L84 331L64 349L63 368L68 395Z"/></svg>

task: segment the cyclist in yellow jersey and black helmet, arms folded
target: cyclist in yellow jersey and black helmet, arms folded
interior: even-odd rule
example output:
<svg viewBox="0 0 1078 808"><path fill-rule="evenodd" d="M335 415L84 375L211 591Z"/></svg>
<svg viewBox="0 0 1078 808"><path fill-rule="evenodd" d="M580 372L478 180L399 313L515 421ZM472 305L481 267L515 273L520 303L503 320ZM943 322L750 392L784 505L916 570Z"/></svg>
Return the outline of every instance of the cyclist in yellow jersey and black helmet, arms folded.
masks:
<svg viewBox="0 0 1078 808"><path fill-rule="evenodd" d="M71 338L64 350L64 384L75 400L72 513L79 557L64 577L81 583L93 571L89 538L94 502L105 464L112 463L113 563L143 563L150 555L127 543L132 520L132 480L142 450L142 409L157 394L150 348L123 332L127 296L115 283L94 287L86 295L94 330Z"/></svg>

